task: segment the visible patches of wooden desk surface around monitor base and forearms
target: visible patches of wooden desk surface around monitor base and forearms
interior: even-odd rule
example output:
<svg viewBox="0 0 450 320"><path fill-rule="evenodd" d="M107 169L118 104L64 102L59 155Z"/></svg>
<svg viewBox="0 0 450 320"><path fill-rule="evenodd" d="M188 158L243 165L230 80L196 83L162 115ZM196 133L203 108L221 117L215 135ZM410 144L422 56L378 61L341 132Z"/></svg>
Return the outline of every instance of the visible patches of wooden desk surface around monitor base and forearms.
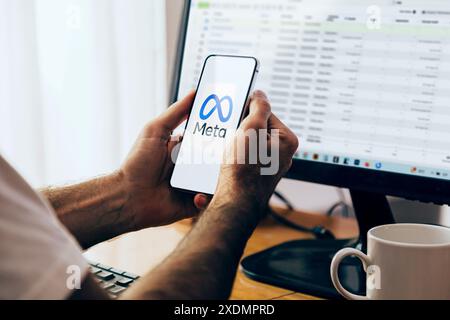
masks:
<svg viewBox="0 0 450 320"><path fill-rule="evenodd" d="M357 235L358 228L353 219L328 218L318 214L284 210L277 211L305 226L323 225L338 238L349 238ZM167 227L126 234L89 249L85 256L90 260L142 275L169 255L190 227L189 221L183 221ZM269 218L261 223L250 238L244 256L289 240L308 238L311 238L309 234L286 228ZM317 298L250 280L239 271L231 299L304 300Z"/></svg>

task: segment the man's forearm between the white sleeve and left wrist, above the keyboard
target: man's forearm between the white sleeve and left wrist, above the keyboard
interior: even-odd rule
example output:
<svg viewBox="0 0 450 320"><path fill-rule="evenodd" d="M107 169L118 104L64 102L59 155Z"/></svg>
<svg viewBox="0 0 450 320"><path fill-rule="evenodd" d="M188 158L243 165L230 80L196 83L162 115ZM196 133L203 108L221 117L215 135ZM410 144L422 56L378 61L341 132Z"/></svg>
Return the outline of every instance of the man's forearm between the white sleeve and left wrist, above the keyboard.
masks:
<svg viewBox="0 0 450 320"><path fill-rule="evenodd" d="M84 248L133 230L133 221L122 214L127 193L120 173L39 191Z"/></svg>

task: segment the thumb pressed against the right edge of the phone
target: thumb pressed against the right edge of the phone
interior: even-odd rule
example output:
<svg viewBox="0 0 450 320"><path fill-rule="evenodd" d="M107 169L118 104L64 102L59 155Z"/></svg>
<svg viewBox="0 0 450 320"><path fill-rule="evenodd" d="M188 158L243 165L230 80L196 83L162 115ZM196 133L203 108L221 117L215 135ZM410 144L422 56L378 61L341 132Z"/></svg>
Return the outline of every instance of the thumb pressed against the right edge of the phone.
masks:
<svg viewBox="0 0 450 320"><path fill-rule="evenodd" d="M243 129L266 129L269 117L271 115L271 108L267 96L262 91L255 91L253 94L249 115L242 122Z"/></svg>

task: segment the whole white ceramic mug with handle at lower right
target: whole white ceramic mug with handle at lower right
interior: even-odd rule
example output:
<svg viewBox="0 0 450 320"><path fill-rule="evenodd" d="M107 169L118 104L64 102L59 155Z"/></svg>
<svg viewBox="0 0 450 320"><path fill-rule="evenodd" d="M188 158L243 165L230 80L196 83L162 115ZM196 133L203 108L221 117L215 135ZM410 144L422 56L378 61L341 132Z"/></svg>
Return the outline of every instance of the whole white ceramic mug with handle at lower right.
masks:
<svg viewBox="0 0 450 320"><path fill-rule="evenodd" d="M450 229L423 224L392 224L371 229L367 255L340 250L331 262L336 290L350 300L450 300ZM366 296L341 285L338 268L348 256L358 257L367 273Z"/></svg>

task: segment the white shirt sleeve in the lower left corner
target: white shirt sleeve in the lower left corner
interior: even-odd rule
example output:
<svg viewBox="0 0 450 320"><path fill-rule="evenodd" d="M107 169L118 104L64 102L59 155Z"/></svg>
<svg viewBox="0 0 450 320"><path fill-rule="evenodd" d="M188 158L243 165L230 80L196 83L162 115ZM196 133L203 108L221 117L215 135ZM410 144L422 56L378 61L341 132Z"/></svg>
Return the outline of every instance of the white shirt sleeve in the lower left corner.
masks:
<svg viewBox="0 0 450 320"><path fill-rule="evenodd" d="M67 298L73 270L81 283L88 264L80 246L0 156L0 299Z"/></svg>

